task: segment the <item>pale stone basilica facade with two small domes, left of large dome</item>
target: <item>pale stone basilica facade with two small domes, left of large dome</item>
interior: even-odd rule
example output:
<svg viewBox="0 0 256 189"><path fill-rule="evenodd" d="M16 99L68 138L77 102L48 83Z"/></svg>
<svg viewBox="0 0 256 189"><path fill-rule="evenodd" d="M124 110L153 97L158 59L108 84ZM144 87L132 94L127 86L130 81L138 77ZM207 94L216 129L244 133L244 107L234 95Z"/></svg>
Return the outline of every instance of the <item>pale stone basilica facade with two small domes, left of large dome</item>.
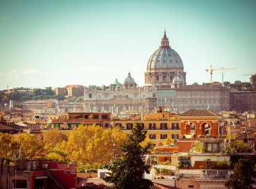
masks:
<svg viewBox="0 0 256 189"><path fill-rule="evenodd" d="M115 80L108 88L85 88L84 109L86 112L152 111L156 105L156 88L139 87L129 72L123 84Z"/></svg>

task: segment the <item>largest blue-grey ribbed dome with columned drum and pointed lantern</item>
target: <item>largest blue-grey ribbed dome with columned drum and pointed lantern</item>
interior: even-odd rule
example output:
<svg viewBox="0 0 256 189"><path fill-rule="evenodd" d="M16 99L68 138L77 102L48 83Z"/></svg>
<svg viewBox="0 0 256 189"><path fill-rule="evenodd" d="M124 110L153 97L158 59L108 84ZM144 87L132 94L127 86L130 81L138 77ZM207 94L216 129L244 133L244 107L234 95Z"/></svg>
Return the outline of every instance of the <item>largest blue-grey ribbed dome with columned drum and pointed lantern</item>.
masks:
<svg viewBox="0 0 256 189"><path fill-rule="evenodd" d="M174 83L179 83L179 85ZM181 56L170 48L169 40L164 31L160 47L150 56L145 72L145 85L156 88L169 89L186 85Z"/></svg>

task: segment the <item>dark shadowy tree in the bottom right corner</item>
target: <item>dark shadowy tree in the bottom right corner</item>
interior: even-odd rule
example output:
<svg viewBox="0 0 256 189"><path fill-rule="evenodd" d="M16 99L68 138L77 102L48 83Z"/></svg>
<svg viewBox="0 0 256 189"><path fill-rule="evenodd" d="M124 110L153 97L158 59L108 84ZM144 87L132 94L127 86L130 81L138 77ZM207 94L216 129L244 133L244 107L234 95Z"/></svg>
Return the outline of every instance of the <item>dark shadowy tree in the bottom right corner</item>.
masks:
<svg viewBox="0 0 256 189"><path fill-rule="evenodd" d="M240 159L234 165L234 174L230 176L230 180L225 182L225 186L233 189L251 188L256 178L254 169L255 161Z"/></svg>

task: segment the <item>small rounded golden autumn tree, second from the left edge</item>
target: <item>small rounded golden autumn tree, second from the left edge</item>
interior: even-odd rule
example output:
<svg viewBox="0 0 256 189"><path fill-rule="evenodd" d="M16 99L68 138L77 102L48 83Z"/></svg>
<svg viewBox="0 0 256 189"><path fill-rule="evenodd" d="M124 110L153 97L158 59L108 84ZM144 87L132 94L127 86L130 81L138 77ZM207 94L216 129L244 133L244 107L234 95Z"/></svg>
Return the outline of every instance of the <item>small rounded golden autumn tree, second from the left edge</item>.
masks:
<svg viewBox="0 0 256 189"><path fill-rule="evenodd" d="M41 151L42 143L34 135L22 133L16 139L19 148L19 156L22 158L32 158L36 152Z"/></svg>

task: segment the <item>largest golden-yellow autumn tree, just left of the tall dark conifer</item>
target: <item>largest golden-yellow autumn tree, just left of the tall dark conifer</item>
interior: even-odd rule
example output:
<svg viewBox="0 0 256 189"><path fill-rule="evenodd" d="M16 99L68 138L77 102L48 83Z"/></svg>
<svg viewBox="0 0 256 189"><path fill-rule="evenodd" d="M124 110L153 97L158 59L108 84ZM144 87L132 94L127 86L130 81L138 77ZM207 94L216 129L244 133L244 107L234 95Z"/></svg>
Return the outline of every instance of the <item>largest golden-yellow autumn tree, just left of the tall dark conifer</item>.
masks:
<svg viewBox="0 0 256 189"><path fill-rule="evenodd" d="M77 164L110 162L113 149L119 149L127 135L120 129L106 129L96 125L79 125L69 133L67 153ZM121 151L114 151L120 156Z"/></svg>

